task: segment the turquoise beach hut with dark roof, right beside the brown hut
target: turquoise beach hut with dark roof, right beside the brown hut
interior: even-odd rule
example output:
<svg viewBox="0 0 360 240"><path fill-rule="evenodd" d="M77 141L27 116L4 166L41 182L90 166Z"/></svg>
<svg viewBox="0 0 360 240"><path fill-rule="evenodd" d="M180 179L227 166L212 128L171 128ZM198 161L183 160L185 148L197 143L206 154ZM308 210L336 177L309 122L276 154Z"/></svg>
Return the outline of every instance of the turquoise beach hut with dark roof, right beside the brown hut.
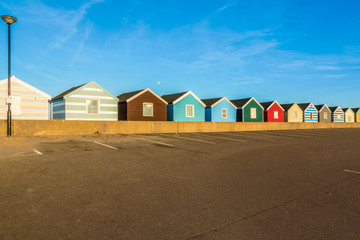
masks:
<svg viewBox="0 0 360 240"><path fill-rule="evenodd" d="M167 106L167 120L204 122L205 104L191 91L161 96Z"/></svg>

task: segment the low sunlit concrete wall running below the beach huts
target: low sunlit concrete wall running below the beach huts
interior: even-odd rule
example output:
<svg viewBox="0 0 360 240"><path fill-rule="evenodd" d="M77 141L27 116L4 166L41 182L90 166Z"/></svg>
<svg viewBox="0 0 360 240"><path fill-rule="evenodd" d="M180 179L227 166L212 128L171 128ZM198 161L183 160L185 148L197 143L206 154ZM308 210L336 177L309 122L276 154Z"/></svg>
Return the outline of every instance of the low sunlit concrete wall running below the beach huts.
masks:
<svg viewBox="0 0 360 240"><path fill-rule="evenodd" d="M148 122L14 120L14 136L103 134L191 133L314 128L360 128L360 123L279 122ZM0 136L6 136L6 120L0 121Z"/></svg>

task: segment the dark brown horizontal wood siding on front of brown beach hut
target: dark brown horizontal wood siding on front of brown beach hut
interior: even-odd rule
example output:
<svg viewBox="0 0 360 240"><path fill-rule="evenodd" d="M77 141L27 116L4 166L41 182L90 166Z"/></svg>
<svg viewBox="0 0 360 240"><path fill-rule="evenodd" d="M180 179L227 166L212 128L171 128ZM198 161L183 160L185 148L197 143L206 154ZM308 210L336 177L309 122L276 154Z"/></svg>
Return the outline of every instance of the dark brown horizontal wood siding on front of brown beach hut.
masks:
<svg viewBox="0 0 360 240"><path fill-rule="evenodd" d="M143 116L143 104L153 104L153 116ZM129 121L166 121L167 104L149 91L134 98L127 103L127 116Z"/></svg>

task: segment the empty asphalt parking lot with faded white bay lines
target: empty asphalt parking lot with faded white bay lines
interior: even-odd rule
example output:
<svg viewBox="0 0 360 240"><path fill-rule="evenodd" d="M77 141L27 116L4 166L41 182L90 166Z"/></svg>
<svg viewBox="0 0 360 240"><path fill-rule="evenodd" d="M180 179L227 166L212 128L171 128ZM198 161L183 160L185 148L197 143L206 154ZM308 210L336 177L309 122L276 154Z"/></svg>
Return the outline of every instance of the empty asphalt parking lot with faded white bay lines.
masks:
<svg viewBox="0 0 360 240"><path fill-rule="evenodd" d="M0 239L359 239L360 129L0 139Z"/></svg>

